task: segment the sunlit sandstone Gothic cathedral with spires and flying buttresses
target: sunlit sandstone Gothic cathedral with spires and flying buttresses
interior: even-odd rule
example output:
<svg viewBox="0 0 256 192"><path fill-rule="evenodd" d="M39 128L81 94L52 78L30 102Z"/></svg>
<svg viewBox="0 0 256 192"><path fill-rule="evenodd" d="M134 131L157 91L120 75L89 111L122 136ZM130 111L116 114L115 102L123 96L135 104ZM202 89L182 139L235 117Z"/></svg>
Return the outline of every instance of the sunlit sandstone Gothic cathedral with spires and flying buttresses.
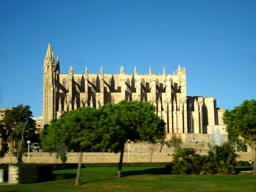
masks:
<svg viewBox="0 0 256 192"><path fill-rule="evenodd" d="M121 66L119 74L89 74L86 66L83 74L60 73L59 56L55 61L49 43L44 61L43 127L52 118L59 118L63 111L91 106L99 108L108 102L121 100L150 102L156 113L166 123L168 134L211 134L219 129L227 135L223 125L223 109L216 107L213 97L189 97L186 94L186 70L178 66L177 72L166 74L125 74ZM188 137L188 136L183 136ZM199 136L198 136L199 137Z"/></svg>

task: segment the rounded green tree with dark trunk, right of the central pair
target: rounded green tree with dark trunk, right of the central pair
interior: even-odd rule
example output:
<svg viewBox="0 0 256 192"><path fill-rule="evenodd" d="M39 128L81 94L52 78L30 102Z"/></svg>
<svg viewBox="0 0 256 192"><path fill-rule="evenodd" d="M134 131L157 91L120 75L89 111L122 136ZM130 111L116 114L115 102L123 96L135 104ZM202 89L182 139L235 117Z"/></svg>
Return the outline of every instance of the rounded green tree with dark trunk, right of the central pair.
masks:
<svg viewBox="0 0 256 192"><path fill-rule="evenodd" d="M165 123L150 103L123 100L114 105L108 103L100 110L99 128L102 138L97 146L121 153L118 177L121 177L124 144L128 139L133 142L154 142L165 138Z"/></svg>

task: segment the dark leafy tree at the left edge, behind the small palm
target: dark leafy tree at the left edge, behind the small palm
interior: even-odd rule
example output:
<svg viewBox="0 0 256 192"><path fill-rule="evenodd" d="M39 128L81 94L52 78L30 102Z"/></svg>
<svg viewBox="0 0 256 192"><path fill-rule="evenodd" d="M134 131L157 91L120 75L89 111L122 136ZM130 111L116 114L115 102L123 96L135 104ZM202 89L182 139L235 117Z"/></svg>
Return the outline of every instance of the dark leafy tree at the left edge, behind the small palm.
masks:
<svg viewBox="0 0 256 192"><path fill-rule="evenodd" d="M30 106L18 105L11 109L7 109L4 113L3 119L0 121L0 137L2 139L2 150L8 151L8 141L16 140L16 135L13 130L19 122L27 122L32 129L36 128L35 120L32 119L32 112Z"/></svg>

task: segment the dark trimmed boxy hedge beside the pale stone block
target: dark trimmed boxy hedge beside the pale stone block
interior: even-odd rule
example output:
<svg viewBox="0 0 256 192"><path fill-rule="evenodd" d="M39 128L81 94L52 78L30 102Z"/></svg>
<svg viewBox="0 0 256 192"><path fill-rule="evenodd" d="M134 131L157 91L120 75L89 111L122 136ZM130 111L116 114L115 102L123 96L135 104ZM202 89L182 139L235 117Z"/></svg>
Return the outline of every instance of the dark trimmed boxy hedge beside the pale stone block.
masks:
<svg viewBox="0 0 256 192"><path fill-rule="evenodd" d="M19 184L40 183L52 180L51 164L16 164L19 167Z"/></svg>

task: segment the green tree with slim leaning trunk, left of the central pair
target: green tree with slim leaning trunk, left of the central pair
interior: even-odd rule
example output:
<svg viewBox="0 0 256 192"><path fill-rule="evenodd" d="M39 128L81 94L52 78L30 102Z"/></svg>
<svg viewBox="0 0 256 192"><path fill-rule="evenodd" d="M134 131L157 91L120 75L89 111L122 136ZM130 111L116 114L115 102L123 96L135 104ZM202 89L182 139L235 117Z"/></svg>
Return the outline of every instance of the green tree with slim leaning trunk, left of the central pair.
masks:
<svg viewBox="0 0 256 192"><path fill-rule="evenodd" d="M60 119L52 119L50 126L40 134L45 149L59 151L60 146L79 148L76 185L80 184L82 148L93 147L99 142L99 116L99 110L95 108L78 108Z"/></svg>

